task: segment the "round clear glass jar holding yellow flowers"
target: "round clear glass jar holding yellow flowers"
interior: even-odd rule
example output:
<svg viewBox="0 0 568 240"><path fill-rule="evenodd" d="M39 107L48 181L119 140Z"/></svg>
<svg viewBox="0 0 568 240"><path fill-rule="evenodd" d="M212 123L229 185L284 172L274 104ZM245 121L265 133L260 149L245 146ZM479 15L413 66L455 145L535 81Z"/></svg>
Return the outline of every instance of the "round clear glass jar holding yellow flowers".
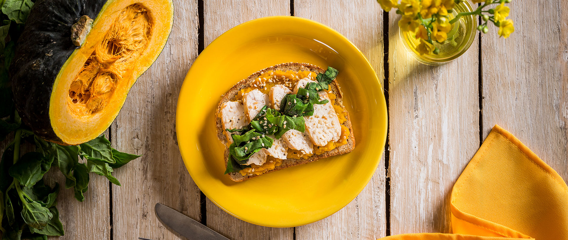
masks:
<svg viewBox="0 0 568 240"><path fill-rule="evenodd" d="M471 12L474 11L471 7L469 1L463 1L462 3L454 6L453 14L449 14L450 19L453 19L456 12ZM420 43L420 40L416 39L415 32L400 32L400 38L407 52L414 57L415 60L423 64L428 65L442 65L457 59L461 56L473 43L475 35L477 35L477 15L465 15L458 20L458 22L453 24L452 30L448 33L448 39L443 43L438 43L434 41L434 45L440 49L438 54L423 54L420 55L416 51L416 46Z"/></svg>

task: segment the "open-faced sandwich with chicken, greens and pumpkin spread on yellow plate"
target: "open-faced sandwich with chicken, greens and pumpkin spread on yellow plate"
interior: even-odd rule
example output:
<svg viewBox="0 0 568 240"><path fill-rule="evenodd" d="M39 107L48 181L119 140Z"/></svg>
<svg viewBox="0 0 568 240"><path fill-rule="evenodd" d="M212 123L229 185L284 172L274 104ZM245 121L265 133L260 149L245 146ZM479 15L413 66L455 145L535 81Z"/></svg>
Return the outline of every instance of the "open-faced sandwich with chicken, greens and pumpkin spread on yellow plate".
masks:
<svg viewBox="0 0 568 240"><path fill-rule="evenodd" d="M284 63L262 69L225 93L216 111L217 136L233 181L355 147L338 71Z"/></svg>

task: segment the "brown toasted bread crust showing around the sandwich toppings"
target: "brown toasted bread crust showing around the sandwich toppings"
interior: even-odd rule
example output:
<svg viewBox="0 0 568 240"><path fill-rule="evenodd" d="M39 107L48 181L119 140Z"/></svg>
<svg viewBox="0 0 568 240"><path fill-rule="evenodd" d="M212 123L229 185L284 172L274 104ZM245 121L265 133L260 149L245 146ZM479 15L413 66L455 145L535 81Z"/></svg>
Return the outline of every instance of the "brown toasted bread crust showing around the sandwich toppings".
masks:
<svg viewBox="0 0 568 240"><path fill-rule="evenodd" d="M320 67L317 67L317 66L311 65L311 64L282 63L282 64L274 65L274 66L269 67L269 68L262 69L262 70L260 70L256 73L253 73L249 77L247 77L247 78L241 80L240 82L238 82L237 84L235 84L235 86L233 86L231 89L229 89L229 91L227 93L225 93L225 94L223 94L223 96L221 96L221 101L219 102L219 106L217 107L217 110L216 110L216 113L215 113L215 121L216 121L216 126L217 126L217 138L219 138L219 140L221 140L221 142L223 142L225 145L227 145L227 136L225 134L223 134L224 129L222 127L221 118L219 117L220 112L221 112L222 107L223 107L223 104L225 102L231 101L231 99L236 96L236 94L237 94L237 92L239 92L239 90L244 89L244 88L248 88L252 84L252 82L254 80L256 80L256 78L258 76L261 75L261 73L268 72L268 71L276 71L276 70L281 70L281 71L291 70L291 71L294 71L294 72L311 71L311 72L315 72L315 73L325 72L325 69L322 69ZM343 93L341 93L341 89L339 88L339 84L337 84L337 80L333 80L333 82L331 84L329 84L329 90L331 90L336 95L335 105L338 105L343 110L345 110L345 107L343 106ZM353 148L355 148L355 136L353 135L353 127L351 126L351 119L349 118L349 113L346 110L345 110L345 113L346 113L347 121L345 121L342 125L345 125L346 127L349 128L349 137L347 138L346 144L344 144L343 146L339 146L337 148L334 148L331 151L324 152L323 154L320 154L320 155L314 154L314 155L310 156L310 158L307 158L307 159L289 158L289 159L282 160L281 165L275 167L272 170L269 170L268 172L262 173L262 174L278 171L280 169L284 169L284 168L288 168L288 167L293 167L295 165L314 162L315 160L327 158L329 156L346 154L346 153L352 151ZM227 165L228 156L229 156L229 149L226 148L225 153L224 153L225 166ZM237 181L237 182L252 179L253 177L260 176L260 175L243 176L239 172L232 172L232 173L229 173L228 175L229 175L229 177L231 177L231 180Z"/></svg>

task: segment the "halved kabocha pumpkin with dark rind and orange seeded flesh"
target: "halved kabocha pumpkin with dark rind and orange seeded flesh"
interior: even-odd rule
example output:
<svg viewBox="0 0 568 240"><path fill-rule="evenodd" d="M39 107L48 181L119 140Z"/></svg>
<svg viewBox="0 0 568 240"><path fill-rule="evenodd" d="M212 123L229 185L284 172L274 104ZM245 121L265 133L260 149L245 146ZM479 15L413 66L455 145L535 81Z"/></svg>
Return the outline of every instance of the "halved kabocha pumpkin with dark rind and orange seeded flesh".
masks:
<svg viewBox="0 0 568 240"><path fill-rule="evenodd" d="M101 135L160 55L172 22L171 0L37 1L10 67L20 117L55 143Z"/></svg>

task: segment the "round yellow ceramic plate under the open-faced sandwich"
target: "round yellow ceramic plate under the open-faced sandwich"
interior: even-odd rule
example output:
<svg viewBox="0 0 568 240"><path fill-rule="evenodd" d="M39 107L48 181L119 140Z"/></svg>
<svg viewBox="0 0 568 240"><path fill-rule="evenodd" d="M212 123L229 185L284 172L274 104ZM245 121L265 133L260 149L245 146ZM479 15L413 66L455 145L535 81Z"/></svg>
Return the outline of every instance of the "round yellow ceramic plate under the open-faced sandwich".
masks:
<svg viewBox="0 0 568 240"><path fill-rule="evenodd" d="M220 96L252 73L287 62L339 70L356 147L235 183L223 175L225 146L216 137ZM377 75L348 39L312 20L273 16L240 24L204 49L179 93L176 127L187 171L211 201L252 224L291 227L337 212L362 191L385 146L387 111Z"/></svg>

